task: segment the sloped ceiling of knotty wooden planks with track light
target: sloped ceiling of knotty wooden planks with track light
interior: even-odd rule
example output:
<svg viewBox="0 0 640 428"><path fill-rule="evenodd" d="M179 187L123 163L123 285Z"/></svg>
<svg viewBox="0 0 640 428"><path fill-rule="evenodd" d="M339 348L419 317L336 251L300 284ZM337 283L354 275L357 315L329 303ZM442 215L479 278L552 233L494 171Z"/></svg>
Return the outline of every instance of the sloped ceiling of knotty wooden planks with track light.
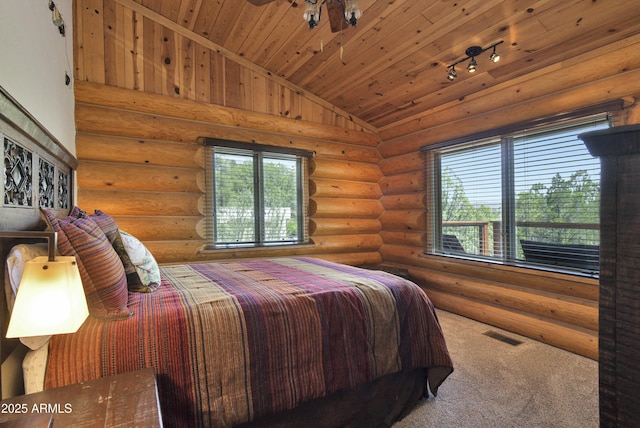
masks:
<svg viewBox="0 0 640 428"><path fill-rule="evenodd" d="M304 0L134 0L256 66L383 128L439 105L640 32L640 2L606 0L360 0L356 27L303 20ZM503 41L499 63L447 66L472 45ZM340 49L342 47L342 50Z"/></svg>

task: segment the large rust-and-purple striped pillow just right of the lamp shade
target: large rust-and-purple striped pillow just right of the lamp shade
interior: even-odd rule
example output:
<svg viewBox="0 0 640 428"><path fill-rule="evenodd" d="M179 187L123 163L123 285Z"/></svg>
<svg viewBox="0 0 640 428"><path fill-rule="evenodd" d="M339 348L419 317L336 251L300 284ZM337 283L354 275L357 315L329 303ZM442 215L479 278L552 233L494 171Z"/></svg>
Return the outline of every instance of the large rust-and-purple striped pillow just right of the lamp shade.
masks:
<svg viewBox="0 0 640 428"><path fill-rule="evenodd" d="M58 232L60 254L76 257L89 313L100 319L129 318L124 266L100 226L77 207L63 219L40 210L49 227Z"/></svg>

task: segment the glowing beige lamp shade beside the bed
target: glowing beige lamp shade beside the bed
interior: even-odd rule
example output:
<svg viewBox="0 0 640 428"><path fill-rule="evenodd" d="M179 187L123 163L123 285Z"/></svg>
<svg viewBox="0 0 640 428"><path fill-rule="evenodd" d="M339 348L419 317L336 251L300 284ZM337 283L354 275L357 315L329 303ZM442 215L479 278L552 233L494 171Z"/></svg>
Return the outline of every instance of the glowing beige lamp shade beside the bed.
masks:
<svg viewBox="0 0 640 428"><path fill-rule="evenodd" d="M36 257L25 264L7 337L74 333L88 315L75 257Z"/></svg>

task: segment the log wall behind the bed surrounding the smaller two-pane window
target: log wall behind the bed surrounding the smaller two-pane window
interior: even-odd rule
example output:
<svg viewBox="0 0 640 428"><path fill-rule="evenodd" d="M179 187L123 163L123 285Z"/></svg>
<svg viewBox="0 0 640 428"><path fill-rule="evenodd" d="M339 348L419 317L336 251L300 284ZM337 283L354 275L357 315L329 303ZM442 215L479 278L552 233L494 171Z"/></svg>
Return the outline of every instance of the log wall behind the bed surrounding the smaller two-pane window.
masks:
<svg viewBox="0 0 640 428"><path fill-rule="evenodd" d="M78 205L114 216L159 262L314 254L380 263L382 173L374 134L101 84L76 82L75 90ZM315 152L309 162L312 244L202 251L200 136Z"/></svg>

